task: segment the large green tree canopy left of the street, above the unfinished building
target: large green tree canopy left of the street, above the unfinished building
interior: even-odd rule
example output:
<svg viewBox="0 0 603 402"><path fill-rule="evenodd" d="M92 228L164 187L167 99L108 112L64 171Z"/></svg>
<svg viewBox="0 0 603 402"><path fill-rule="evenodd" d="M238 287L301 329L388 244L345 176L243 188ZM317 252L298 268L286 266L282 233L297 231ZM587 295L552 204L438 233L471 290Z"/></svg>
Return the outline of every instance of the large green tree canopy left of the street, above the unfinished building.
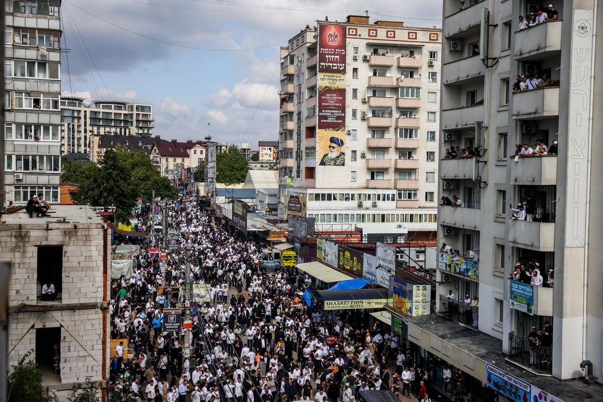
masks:
<svg viewBox="0 0 603 402"><path fill-rule="evenodd" d="M124 148L107 150L98 165L88 163L81 168L67 166L63 181L78 184L71 198L80 204L115 206L115 219L127 222L138 198L149 202L153 190L163 198L177 198L178 190L162 177L151 160L142 152Z"/></svg>

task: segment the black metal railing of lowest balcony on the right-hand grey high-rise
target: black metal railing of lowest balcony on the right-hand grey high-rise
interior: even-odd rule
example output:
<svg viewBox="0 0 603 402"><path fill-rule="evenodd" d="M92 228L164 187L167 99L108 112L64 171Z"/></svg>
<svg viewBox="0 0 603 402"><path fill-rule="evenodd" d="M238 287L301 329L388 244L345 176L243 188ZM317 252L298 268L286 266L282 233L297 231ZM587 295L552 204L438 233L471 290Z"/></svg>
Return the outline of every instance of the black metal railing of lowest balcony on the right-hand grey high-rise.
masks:
<svg viewBox="0 0 603 402"><path fill-rule="evenodd" d="M528 338L520 338L514 331L509 333L507 357L539 374L552 375L552 349L537 345Z"/></svg>

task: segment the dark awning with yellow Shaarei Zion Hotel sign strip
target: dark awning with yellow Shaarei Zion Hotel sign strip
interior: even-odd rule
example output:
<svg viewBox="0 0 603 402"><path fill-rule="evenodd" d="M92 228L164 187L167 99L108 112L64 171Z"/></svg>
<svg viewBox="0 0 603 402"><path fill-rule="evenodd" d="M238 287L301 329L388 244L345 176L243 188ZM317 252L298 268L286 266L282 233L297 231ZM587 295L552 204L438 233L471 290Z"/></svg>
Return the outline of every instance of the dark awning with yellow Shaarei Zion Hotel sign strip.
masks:
<svg viewBox="0 0 603 402"><path fill-rule="evenodd" d="M387 289L349 289L318 291L325 310L382 309L387 304Z"/></svg>

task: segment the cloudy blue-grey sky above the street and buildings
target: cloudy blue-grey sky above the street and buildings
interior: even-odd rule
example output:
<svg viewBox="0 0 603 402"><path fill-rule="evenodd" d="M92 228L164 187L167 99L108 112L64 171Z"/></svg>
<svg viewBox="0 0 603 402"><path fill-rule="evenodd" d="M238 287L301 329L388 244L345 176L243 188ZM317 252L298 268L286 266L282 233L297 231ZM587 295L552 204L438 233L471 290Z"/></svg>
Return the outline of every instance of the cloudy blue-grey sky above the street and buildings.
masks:
<svg viewBox="0 0 603 402"><path fill-rule="evenodd" d="M367 7L371 22L441 25L441 0L63 0L62 92L153 104L164 139L202 139L210 122L256 149L278 139L279 47Z"/></svg>

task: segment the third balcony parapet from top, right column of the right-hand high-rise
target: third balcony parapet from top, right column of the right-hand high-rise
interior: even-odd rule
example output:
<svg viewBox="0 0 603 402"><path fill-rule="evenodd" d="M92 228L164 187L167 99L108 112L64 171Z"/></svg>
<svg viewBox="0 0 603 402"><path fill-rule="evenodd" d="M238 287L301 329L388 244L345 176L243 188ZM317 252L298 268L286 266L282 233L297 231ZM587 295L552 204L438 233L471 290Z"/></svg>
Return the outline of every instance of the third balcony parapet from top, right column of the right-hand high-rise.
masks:
<svg viewBox="0 0 603 402"><path fill-rule="evenodd" d="M532 156L512 162L511 183L529 186L557 185L557 157Z"/></svg>

